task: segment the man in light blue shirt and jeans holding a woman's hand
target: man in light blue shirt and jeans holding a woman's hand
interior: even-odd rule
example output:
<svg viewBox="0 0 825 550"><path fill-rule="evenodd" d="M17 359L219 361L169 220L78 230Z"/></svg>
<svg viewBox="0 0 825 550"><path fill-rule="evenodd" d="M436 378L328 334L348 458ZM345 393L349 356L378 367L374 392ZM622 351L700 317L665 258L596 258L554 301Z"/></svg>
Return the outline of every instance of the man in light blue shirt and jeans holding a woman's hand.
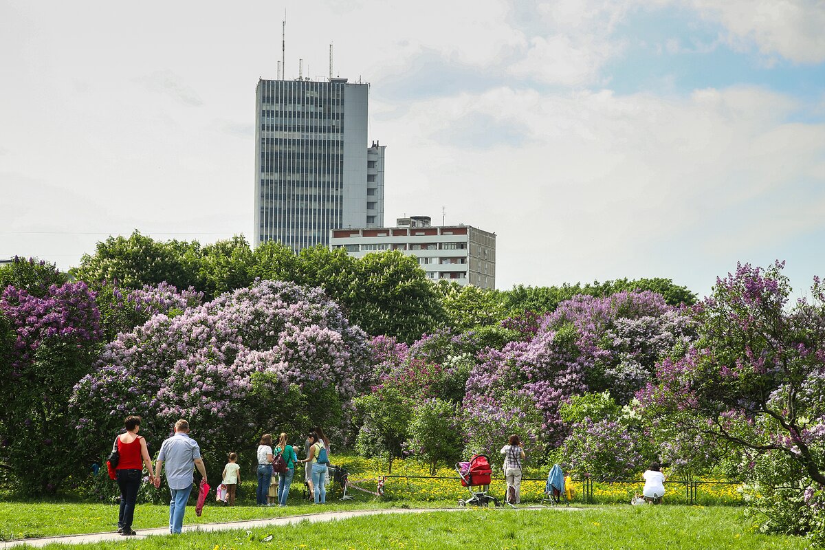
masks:
<svg viewBox="0 0 825 550"><path fill-rule="evenodd" d="M179 534L183 528L186 501L189 500L192 483L195 482L193 466L198 468L206 481L206 468L200 458L200 447L196 440L189 437L189 422L175 422L175 435L163 441L155 462L155 487L160 487L163 463L166 463L166 482L169 491L172 491L172 501L169 501L169 532Z"/></svg>

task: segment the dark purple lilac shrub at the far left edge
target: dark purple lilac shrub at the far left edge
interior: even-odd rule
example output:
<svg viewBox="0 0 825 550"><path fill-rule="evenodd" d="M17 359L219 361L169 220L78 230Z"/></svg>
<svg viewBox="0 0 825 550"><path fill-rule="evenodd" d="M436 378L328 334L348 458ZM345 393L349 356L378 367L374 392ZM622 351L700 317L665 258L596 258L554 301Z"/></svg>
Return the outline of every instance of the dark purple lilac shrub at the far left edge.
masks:
<svg viewBox="0 0 825 550"><path fill-rule="evenodd" d="M0 462L24 491L54 492L80 459L66 430L68 398L101 338L95 294L82 282L52 284L43 296L9 285L0 313L11 345L0 361Z"/></svg>

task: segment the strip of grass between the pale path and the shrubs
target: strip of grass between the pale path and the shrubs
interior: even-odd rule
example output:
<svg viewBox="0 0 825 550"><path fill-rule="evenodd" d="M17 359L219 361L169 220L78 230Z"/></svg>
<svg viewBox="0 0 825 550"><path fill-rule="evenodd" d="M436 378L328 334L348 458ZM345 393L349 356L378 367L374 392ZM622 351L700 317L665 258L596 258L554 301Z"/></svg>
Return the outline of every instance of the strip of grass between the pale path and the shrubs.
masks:
<svg viewBox="0 0 825 550"><path fill-rule="evenodd" d="M417 508L455 506L455 501L415 503ZM403 502L360 501L342 503L328 501L321 511L364 510L370 508L409 507ZM117 505L85 504L78 502L0 502L0 540L11 538L51 537L64 534L101 533L117 529ZM220 523L240 519L276 518L284 515L314 514L318 506L308 501L289 501L285 508L235 505L211 505L207 502L203 515L195 515L195 507L186 508L184 524ZM166 527L169 524L169 506L139 504L134 511L134 529Z"/></svg>

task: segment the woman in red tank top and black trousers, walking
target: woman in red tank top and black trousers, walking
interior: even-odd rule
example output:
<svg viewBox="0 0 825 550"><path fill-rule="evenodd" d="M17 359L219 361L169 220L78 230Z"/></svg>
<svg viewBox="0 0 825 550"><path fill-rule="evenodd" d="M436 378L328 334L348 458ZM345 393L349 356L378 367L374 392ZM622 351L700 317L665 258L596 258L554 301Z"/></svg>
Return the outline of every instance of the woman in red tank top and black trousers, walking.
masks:
<svg viewBox="0 0 825 550"><path fill-rule="evenodd" d="M117 485L120 487L120 513L117 531L122 535L135 534L132 530L134 504L143 481L144 465L149 472L149 482L154 482L152 460L146 448L146 440L138 435L140 416L129 416L124 422L126 433L117 436L115 445L120 459L117 462Z"/></svg>

